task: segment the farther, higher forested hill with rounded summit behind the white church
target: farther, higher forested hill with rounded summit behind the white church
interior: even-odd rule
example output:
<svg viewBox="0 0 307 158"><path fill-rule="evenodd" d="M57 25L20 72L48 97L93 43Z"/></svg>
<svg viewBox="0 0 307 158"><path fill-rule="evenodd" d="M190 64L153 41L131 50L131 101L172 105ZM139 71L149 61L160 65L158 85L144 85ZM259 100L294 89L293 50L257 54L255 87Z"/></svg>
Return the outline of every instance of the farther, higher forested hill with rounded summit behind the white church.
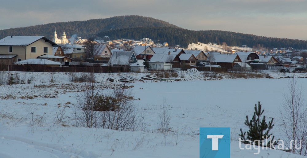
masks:
<svg viewBox="0 0 307 158"><path fill-rule="evenodd" d="M0 39L15 35L15 36L45 36L49 39L53 38L53 33L56 29L57 35L60 38L63 31L69 37L76 34L82 38L89 38L91 35L96 35L101 31L115 30L122 28L135 27L170 27L179 28L168 22L154 19L151 17L143 17L138 15L116 16L105 19L92 19L85 21L68 21L57 22L50 24L42 24L23 28L10 28L0 30Z"/></svg>

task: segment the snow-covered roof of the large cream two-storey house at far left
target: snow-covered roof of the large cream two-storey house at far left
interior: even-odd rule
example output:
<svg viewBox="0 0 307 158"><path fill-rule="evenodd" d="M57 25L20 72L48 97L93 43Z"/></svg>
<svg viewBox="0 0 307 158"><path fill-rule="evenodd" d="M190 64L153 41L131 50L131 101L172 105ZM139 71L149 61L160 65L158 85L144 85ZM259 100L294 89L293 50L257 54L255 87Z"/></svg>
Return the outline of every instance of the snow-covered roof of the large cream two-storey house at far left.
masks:
<svg viewBox="0 0 307 158"><path fill-rule="evenodd" d="M52 46L57 46L57 44L50 41L44 36L7 36L0 40L0 46L28 46L40 39L44 39Z"/></svg>

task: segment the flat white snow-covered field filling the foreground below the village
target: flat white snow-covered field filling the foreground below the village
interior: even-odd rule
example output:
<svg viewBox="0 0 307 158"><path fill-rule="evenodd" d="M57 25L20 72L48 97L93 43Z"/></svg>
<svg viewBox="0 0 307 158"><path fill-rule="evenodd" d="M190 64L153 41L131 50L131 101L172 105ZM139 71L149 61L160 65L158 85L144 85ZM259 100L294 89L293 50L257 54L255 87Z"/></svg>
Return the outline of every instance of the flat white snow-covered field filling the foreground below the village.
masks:
<svg viewBox="0 0 307 158"><path fill-rule="evenodd" d="M116 131L73 126L75 97L83 83L70 82L69 73L20 72L32 83L0 86L0 157L199 157L200 127L231 127L231 157L302 157L279 150L254 155L257 150L241 150L237 141L239 129L247 130L245 116L253 114L258 101L266 117L275 118L273 134L282 137L278 107L288 79L277 78L293 74L205 81L200 72L183 73L186 81L129 83L140 98L134 102L145 111L146 130ZM109 75L119 74L99 73L96 80L108 87L119 84L105 82ZM298 79L305 89L306 80ZM166 133L158 130L163 100L171 113Z"/></svg>

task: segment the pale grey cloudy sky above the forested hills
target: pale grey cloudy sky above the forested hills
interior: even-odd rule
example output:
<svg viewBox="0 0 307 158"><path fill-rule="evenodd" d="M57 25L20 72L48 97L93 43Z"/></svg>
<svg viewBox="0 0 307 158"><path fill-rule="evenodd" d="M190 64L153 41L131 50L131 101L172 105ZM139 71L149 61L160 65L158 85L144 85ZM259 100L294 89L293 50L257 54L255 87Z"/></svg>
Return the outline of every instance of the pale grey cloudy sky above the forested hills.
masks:
<svg viewBox="0 0 307 158"><path fill-rule="evenodd" d="M0 6L0 30L142 15L188 30L307 40L306 7L307 0L10 0Z"/></svg>

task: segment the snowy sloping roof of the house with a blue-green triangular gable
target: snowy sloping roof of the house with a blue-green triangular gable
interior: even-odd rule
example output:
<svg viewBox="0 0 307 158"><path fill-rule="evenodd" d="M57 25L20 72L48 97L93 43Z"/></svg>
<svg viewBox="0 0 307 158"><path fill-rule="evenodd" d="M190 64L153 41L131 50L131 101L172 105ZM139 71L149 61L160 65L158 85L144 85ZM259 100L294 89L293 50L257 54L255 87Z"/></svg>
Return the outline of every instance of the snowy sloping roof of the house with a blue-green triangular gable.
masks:
<svg viewBox="0 0 307 158"><path fill-rule="evenodd" d="M129 61L132 55L133 52L114 52L114 54L110 57L108 64L129 65Z"/></svg>

